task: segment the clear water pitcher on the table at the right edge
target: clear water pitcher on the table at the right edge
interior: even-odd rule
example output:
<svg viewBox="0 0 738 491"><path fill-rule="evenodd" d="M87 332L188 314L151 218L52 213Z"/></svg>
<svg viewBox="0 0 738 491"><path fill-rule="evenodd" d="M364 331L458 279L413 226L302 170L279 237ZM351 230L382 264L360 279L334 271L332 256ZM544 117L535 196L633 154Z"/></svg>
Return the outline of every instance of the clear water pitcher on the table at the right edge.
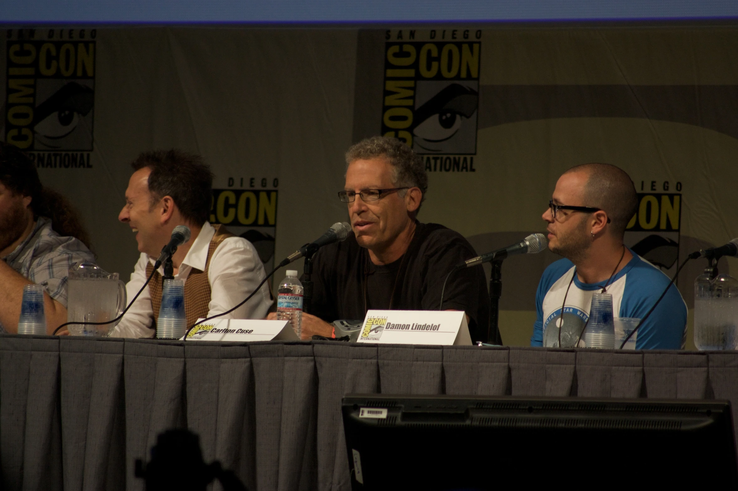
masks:
<svg viewBox="0 0 738 491"><path fill-rule="evenodd" d="M699 350L738 348L738 280L706 273L694 280L694 346Z"/></svg>

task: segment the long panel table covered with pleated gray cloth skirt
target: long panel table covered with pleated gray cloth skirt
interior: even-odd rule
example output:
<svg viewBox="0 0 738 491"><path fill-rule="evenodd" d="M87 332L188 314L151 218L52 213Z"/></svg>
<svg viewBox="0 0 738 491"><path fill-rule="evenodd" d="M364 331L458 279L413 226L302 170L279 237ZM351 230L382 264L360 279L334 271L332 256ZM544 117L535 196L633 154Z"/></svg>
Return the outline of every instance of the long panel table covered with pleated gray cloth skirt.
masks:
<svg viewBox="0 0 738 491"><path fill-rule="evenodd" d="M728 399L735 419L738 354L6 334L1 486L143 490L135 460L189 428L249 490L349 490L352 393Z"/></svg>

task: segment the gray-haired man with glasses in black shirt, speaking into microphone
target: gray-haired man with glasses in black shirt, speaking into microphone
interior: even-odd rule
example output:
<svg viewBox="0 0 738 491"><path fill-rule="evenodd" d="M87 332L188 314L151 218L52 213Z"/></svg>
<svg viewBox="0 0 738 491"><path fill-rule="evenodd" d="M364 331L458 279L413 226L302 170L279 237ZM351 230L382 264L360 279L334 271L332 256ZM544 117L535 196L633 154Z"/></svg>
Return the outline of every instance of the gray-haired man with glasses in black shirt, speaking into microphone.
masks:
<svg viewBox="0 0 738 491"><path fill-rule="evenodd" d="M353 233L314 255L303 338L331 337L334 320L363 320L368 309L436 310L446 275L477 255L461 234L415 218L428 176L421 158L400 140L362 140L348 149L346 163L338 195ZM482 268L451 275L444 309L466 312L472 340L486 336L489 298Z"/></svg>

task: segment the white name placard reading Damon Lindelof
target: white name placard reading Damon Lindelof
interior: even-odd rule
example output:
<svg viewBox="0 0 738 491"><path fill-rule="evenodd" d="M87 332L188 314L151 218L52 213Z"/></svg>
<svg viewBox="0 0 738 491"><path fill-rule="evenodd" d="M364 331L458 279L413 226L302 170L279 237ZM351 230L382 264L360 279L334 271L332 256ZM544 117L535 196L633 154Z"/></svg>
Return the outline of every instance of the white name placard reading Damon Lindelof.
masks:
<svg viewBox="0 0 738 491"><path fill-rule="evenodd" d="M463 312L370 310L357 343L471 345Z"/></svg>

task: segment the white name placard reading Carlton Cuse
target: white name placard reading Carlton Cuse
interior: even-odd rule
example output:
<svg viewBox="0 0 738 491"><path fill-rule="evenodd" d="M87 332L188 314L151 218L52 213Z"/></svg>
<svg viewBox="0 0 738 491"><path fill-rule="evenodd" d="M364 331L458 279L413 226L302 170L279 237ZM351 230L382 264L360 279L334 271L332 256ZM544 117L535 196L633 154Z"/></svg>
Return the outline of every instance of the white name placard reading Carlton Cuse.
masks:
<svg viewBox="0 0 738 491"><path fill-rule="evenodd" d="M187 341L272 340L297 340L289 320L213 319L193 327L187 334Z"/></svg>

